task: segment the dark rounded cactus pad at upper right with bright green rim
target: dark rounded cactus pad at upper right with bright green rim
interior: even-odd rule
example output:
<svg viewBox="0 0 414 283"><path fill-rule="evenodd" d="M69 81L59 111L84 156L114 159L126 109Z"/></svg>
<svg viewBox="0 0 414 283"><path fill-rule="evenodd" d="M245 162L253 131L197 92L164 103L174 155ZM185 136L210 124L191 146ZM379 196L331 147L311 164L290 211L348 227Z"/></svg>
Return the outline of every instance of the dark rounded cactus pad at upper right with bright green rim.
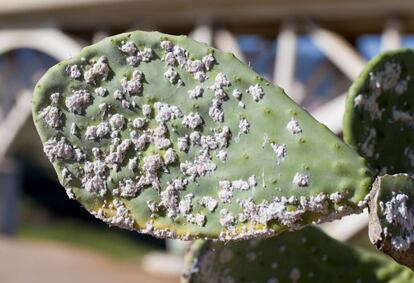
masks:
<svg viewBox="0 0 414 283"><path fill-rule="evenodd" d="M414 51L380 54L352 84L344 139L379 175L414 173Z"/></svg>

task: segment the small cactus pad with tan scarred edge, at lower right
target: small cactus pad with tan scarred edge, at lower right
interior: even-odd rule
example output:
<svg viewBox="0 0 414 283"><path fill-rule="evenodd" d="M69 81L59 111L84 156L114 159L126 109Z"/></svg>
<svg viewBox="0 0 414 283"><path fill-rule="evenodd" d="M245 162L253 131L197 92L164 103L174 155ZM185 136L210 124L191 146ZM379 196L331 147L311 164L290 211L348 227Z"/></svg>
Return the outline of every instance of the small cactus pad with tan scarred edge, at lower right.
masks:
<svg viewBox="0 0 414 283"><path fill-rule="evenodd" d="M378 177L369 200L371 242L414 270L414 178L406 174Z"/></svg>

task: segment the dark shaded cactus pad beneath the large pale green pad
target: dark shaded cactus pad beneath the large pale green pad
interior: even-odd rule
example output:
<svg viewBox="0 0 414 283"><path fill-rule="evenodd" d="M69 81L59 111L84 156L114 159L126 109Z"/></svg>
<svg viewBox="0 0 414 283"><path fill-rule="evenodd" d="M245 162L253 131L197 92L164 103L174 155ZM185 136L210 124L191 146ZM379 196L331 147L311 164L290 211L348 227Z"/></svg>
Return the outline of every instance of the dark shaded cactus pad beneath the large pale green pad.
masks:
<svg viewBox="0 0 414 283"><path fill-rule="evenodd" d="M386 256L340 243L306 227L268 239L198 240L181 283L413 282L414 273Z"/></svg>

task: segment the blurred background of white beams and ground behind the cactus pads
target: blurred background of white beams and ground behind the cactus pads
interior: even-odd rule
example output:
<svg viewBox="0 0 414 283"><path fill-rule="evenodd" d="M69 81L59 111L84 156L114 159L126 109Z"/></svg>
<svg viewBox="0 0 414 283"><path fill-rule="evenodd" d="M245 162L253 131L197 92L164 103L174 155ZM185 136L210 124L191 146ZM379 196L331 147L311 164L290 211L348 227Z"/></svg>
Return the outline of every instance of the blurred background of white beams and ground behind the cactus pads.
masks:
<svg viewBox="0 0 414 283"><path fill-rule="evenodd" d="M414 46L414 2L0 1L0 282L179 281L186 244L109 228L69 200L31 118L31 90L49 67L135 29L233 52L340 136L344 95L366 61ZM371 248L366 227L363 214L323 228Z"/></svg>

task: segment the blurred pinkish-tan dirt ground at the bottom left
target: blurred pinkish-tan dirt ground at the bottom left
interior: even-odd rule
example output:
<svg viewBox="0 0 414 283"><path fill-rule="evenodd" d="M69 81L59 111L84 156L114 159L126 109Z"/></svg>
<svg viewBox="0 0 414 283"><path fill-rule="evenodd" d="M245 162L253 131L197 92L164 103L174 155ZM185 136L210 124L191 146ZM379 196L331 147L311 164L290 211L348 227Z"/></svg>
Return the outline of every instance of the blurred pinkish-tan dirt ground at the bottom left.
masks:
<svg viewBox="0 0 414 283"><path fill-rule="evenodd" d="M4 283L177 283L133 263L64 244L0 238L0 282Z"/></svg>

